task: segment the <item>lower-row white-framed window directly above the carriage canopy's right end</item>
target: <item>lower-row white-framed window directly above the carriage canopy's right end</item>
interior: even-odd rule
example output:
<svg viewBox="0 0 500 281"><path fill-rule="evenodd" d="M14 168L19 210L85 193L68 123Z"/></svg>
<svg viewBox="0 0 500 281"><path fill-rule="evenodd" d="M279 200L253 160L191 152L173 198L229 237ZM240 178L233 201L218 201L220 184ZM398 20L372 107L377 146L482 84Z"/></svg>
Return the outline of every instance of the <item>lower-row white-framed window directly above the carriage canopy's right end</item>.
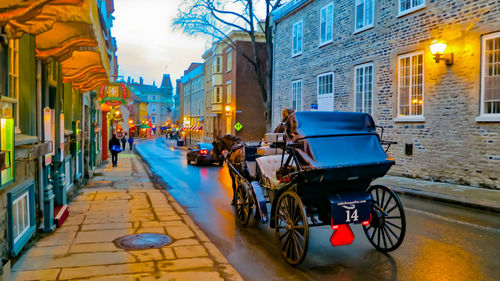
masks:
<svg viewBox="0 0 500 281"><path fill-rule="evenodd" d="M354 82L356 112L373 114L373 63L356 66Z"/></svg>

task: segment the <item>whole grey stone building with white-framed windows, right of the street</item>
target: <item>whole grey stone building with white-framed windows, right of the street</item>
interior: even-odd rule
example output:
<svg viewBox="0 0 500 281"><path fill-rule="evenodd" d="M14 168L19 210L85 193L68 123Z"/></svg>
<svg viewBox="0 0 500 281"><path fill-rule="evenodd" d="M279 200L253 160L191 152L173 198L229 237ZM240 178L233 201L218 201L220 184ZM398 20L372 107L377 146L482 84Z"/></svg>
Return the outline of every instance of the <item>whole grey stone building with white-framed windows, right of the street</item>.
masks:
<svg viewBox="0 0 500 281"><path fill-rule="evenodd" d="M498 1L298 0L273 17L274 125L283 107L367 112L398 142L392 174L500 188Z"/></svg>

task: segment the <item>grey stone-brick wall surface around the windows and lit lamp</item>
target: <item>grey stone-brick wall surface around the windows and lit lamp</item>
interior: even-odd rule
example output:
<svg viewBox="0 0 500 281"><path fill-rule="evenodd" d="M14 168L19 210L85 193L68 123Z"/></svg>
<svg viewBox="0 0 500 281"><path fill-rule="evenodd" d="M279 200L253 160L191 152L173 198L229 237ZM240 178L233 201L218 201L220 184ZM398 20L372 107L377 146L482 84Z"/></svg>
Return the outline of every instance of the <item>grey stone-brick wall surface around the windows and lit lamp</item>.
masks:
<svg viewBox="0 0 500 281"><path fill-rule="evenodd" d="M276 25L273 124L291 106L292 81L302 79L303 108L316 104L317 76L334 72L335 110L354 110L354 67L374 65L374 114L386 138L392 174L500 188L500 122L480 123L481 36L500 31L496 0L427 0L426 7L398 17L398 1L375 1L374 27L354 34L354 1L334 2L333 42L319 46L320 9L331 0L309 1ZM303 54L291 57L292 25L304 22ZM448 42L455 63L435 63L433 39ZM395 122L397 57L424 52L424 122ZM406 156L405 144L413 144Z"/></svg>

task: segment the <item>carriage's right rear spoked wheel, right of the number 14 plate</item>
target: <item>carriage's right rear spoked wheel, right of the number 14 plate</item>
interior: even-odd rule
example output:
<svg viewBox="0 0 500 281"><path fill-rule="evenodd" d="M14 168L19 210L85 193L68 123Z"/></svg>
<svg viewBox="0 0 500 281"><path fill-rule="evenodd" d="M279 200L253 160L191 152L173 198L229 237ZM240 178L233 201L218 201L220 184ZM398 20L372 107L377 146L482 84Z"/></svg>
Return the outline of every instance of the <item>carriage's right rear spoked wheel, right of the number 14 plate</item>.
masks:
<svg viewBox="0 0 500 281"><path fill-rule="evenodd" d="M371 222L363 226L366 237L379 251L397 249L405 237L406 217L403 205L394 191L383 185L370 186L367 190L373 199Z"/></svg>

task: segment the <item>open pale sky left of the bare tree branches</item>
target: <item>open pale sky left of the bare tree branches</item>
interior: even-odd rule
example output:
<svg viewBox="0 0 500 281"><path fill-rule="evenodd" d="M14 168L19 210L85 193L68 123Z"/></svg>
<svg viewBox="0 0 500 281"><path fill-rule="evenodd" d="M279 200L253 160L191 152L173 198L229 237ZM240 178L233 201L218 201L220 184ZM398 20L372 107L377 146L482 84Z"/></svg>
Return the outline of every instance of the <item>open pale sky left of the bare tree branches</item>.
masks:
<svg viewBox="0 0 500 281"><path fill-rule="evenodd" d="M112 35L118 45L119 75L161 83L164 73L180 78L191 62L203 62L204 39L172 30L182 0L115 0Z"/></svg>

